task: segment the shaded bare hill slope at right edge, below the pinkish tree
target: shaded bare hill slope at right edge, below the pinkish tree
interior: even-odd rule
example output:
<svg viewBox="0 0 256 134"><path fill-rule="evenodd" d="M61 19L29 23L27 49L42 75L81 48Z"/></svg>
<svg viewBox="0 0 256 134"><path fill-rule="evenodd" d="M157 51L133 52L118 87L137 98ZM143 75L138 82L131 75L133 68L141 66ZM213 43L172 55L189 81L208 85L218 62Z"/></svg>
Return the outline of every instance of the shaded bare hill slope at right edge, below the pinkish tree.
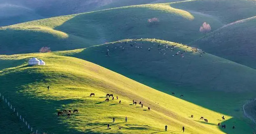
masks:
<svg viewBox="0 0 256 134"><path fill-rule="evenodd" d="M193 42L193 46L231 61L256 68L256 17L228 24Z"/></svg>

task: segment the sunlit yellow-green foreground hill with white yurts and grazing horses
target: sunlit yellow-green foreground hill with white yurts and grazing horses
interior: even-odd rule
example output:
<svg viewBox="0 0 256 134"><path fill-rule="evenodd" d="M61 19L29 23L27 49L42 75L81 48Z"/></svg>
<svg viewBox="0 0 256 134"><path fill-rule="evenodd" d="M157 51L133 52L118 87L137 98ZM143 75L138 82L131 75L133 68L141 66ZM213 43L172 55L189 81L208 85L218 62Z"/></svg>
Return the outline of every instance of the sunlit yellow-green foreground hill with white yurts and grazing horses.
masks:
<svg viewBox="0 0 256 134"><path fill-rule="evenodd" d="M223 124L229 126L225 132L240 134L253 131L243 121L237 121L236 117L157 91L91 62L58 56L79 51L0 56L0 64L4 66L0 70L1 94L5 94L31 127L39 132L183 134L181 128L185 126L184 134L224 134L223 129L217 126L218 122L222 122L218 120L222 115L226 117ZM27 66L31 57L43 59L46 65ZM92 92L95 97L89 97ZM119 99L105 102L107 93L113 93ZM132 105L132 99L142 101L144 108ZM121 104L118 103L119 100ZM72 114L71 118L66 115L58 117L57 112L63 109L78 109L79 113ZM9 112L2 114L8 116ZM193 119L189 118L191 114L194 115ZM128 123L124 122L125 116L128 117ZM207 118L209 123L200 120L200 116ZM111 123L112 117L116 118L115 123ZM108 123L111 130L106 129ZM15 123L4 125L6 127L0 130L1 134L18 129L13 128ZM168 132L163 132L165 125L168 125ZM231 129L232 125L239 128L234 131ZM18 131L16 134L23 132Z"/></svg>

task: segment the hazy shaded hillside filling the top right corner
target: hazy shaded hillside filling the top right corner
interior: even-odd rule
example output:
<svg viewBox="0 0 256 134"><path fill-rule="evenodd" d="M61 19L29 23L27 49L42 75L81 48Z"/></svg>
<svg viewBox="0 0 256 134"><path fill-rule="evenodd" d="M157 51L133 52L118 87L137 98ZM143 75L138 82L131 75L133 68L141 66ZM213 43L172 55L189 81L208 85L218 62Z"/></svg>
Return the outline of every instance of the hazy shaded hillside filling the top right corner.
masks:
<svg viewBox="0 0 256 134"><path fill-rule="evenodd" d="M191 13L210 15L226 24L256 15L255 0L188 0L172 6Z"/></svg>

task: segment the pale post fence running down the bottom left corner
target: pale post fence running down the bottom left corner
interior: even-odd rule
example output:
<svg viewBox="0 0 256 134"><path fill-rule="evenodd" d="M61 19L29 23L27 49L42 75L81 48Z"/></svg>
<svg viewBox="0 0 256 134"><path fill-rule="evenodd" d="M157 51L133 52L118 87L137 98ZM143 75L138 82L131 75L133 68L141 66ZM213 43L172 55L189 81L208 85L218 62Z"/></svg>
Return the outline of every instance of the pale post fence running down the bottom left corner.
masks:
<svg viewBox="0 0 256 134"><path fill-rule="evenodd" d="M0 98L1 98L1 95L2 95L2 100L4 101L4 96L3 96L3 94L1 94L0 93ZM8 105L8 107L11 109L11 111L12 111L12 109L13 109L13 112L14 112L14 115L15 115L15 108L14 108L14 106L13 105L11 105L11 103L8 101L7 102L7 98L5 97L5 103L7 103L7 105ZM31 133L33 133L33 134L39 134L38 133L38 130L37 129L33 129L33 127L31 127L31 124L30 124L30 126L29 126L29 123L27 123L27 121L25 121L25 119L24 118L21 118L22 116L21 116L21 114L18 114L18 112L17 112L17 116L18 116L18 118L20 119L20 121L23 121L23 123L27 126L28 125L28 129L31 131ZM19 117L20 116L20 117ZM34 132L33 132L33 130L35 130ZM45 132L42 132L42 134L46 134Z"/></svg>

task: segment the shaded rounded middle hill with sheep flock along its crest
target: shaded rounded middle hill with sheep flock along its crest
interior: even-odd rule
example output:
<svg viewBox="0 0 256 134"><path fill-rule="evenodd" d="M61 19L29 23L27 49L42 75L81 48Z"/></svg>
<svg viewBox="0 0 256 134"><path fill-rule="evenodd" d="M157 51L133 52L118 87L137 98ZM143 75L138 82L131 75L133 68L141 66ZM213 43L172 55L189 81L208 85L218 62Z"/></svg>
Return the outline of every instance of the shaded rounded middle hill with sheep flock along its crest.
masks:
<svg viewBox="0 0 256 134"><path fill-rule="evenodd" d="M244 101L256 96L253 88L256 70L252 68L208 53L200 57L200 53L192 53L191 48L173 42L136 40L132 43L137 44L132 46L130 42L125 42L126 40L80 49L70 55L167 94L183 94L182 99L241 119ZM159 44L162 45L158 48ZM166 48L164 45L177 45L177 48L171 51L170 47ZM109 56L107 49L110 51ZM177 52L179 55L175 55Z"/></svg>

